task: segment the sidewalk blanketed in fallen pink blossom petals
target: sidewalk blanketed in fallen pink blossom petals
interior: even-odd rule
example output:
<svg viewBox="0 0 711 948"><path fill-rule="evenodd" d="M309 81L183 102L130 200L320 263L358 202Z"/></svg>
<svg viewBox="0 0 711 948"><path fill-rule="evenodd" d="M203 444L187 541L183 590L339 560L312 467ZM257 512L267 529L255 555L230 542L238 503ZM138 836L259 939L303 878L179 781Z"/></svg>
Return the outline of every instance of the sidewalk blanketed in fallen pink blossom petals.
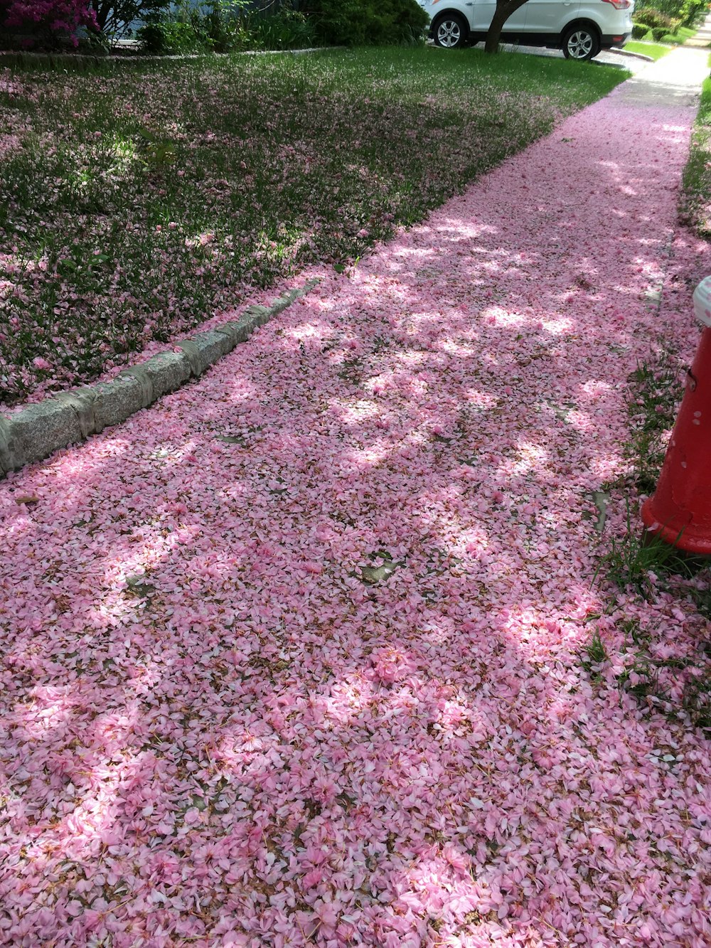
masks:
<svg viewBox="0 0 711 948"><path fill-rule="evenodd" d="M0 484L0 943L711 943L709 743L618 684L591 518L698 339L694 114L620 86Z"/></svg>

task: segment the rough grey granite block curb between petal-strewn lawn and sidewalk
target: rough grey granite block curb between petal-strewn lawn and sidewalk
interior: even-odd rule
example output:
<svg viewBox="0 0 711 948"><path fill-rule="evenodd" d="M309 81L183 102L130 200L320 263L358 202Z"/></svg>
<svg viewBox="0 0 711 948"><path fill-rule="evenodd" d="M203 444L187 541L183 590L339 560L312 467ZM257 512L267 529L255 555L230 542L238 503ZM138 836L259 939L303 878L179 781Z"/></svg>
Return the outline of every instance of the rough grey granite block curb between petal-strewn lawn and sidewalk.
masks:
<svg viewBox="0 0 711 948"><path fill-rule="evenodd" d="M9 417L0 415L0 479L9 471L42 461L62 447L118 425L162 395L198 378L317 283L319 280L308 280L284 293L271 306L249 306L240 319L179 339L175 345L181 352L158 353L122 369L110 382L60 392Z"/></svg>

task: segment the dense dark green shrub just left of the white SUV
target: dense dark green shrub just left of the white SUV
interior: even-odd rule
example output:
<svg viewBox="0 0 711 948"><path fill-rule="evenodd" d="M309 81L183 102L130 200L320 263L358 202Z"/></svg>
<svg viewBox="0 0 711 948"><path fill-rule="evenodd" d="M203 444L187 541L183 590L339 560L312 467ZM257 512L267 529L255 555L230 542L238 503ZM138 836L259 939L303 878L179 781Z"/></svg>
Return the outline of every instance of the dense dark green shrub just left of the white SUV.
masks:
<svg viewBox="0 0 711 948"><path fill-rule="evenodd" d="M411 44L429 23L415 0L307 0L305 11L327 46Z"/></svg>

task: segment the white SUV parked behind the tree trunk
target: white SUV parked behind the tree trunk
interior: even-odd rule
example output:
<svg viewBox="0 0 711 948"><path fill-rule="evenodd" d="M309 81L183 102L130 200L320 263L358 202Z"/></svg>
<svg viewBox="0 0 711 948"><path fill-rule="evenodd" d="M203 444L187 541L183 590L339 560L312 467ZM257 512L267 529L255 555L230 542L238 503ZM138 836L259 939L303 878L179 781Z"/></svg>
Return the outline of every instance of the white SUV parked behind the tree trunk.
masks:
<svg viewBox="0 0 711 948"><path fill-rule="evenodd" d="M454 49L479 43L496 0L418 0L428 12L429 35ZM601 49L625 46L632 31L634 0L526 0L503 25L501 43L550 46L568 59L592 59Z"/></svg>

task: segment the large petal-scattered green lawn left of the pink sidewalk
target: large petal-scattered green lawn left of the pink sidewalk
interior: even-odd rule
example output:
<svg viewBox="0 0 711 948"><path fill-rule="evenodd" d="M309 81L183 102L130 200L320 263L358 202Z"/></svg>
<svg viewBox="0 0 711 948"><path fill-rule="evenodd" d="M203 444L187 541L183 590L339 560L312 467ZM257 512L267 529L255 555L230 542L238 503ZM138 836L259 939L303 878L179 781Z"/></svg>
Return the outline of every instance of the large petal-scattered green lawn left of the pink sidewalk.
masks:
<svg viewBox="0 0 711 948"><path fill-rule="evenodd" d="M0 70L0 400L355 259L627 75L426 47Z"/></svg>

